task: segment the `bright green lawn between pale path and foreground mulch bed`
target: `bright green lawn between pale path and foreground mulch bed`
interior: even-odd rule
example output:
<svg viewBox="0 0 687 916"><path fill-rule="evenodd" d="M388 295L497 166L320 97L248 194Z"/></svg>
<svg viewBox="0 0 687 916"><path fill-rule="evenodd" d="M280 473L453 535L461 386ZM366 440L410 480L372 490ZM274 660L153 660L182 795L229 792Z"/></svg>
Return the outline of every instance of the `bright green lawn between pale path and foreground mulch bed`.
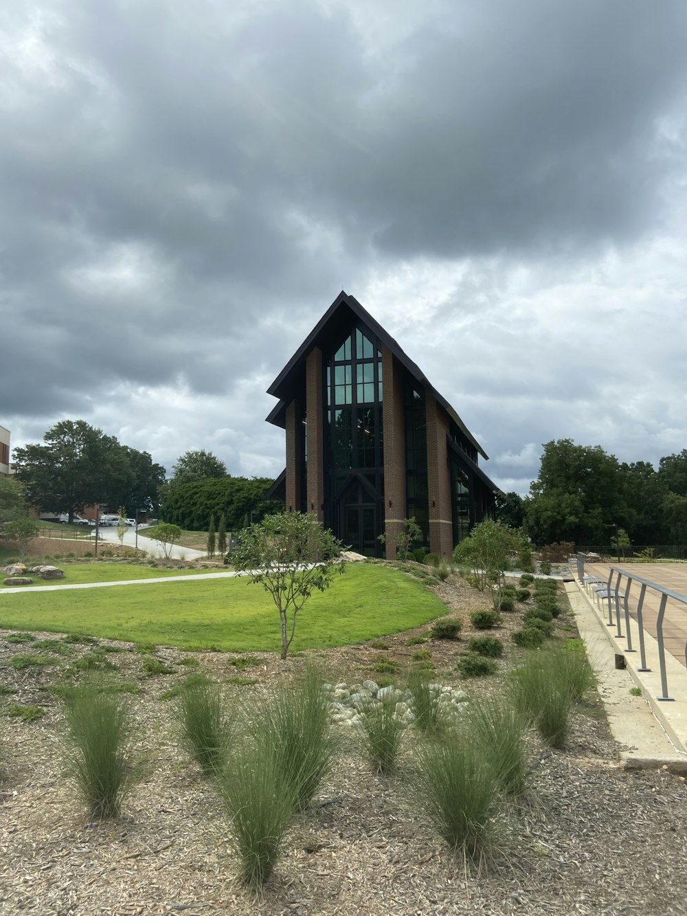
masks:
<svg viewBox="0 0 687 916"><path fill-rule="evenodd" d="M439 598L408 575L349 563L329 591L314 594L300 612L291 649L364 642L445 613ZM279 647L277 609L261 586L244 578L0 595L0 628L80 632L189 650Z"/></svg>

